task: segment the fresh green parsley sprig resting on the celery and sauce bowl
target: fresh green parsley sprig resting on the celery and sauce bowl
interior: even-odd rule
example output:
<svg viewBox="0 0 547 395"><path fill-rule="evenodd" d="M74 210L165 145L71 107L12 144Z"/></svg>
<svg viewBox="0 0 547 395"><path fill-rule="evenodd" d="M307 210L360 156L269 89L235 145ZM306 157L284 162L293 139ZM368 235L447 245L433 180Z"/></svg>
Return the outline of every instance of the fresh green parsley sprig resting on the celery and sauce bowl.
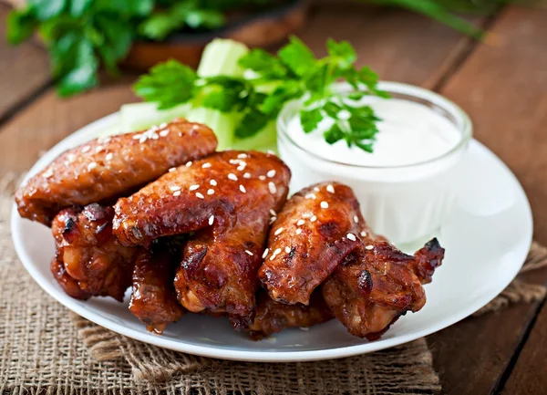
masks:
<svg viewBox="0 0 547 395"><path fill-rule="evenodd" d="M134 89L146 101L169 109L191 102L194 107L237 113L241 117L235 130L247 138L275 120L284 104L293 99L303 102L300 119L304 132L317 130L319 122L331 120L325 130L329 144L345 140L371 152L377 121L373 109L359 103L366 95L387 98L377 88L377 75L367 67L356 68L356 51L346 41L329 39L328 55L316 58L310 48L292 37L277 57L263 49L253 49L239 60L244 77L200 78L191 68L170 60L151 68ZM353 91L335 89L336 81L346 81Z"/></svg>

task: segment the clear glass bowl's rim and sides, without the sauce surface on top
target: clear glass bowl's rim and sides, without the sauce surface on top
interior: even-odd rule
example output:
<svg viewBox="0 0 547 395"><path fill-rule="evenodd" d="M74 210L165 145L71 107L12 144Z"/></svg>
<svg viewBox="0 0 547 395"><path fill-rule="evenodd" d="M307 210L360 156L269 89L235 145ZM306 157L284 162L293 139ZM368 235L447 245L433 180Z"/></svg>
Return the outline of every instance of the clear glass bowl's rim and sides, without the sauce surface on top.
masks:
<svg viewBox="0 0 547 395"><path fill-rule="evenodd" d="M351 90L346 84L336 88ZM420 103L449 120L459 131L458 143L438 157L405 165L361 166L331 161L291 138L288 124L302 106L294 100L287 103L277 120L278 149L293 172L292 192L315 182L344 182L356 192L366 222L377 234L396 244L416 244L436 234L454 208L454 169L469 144L472 124L456 104L428 89L397 82L381 82L379 88L392 98Z"/></svg>

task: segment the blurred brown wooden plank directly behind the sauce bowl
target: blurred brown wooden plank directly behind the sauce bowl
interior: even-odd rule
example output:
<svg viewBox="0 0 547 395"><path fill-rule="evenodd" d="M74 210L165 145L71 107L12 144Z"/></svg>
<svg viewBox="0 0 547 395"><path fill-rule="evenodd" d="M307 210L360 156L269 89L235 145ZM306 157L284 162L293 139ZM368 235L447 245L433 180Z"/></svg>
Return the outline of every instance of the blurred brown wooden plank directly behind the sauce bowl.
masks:
<svg viewBox="0 0 547 395"><path fill-rule="evenodd" d="M480 23L480 18L470 19ZM325 5L299 35L315 54L325 56L329 37L347 40L358 64L381 79L433 88L454 61L474 43L439 22L408 11L366 5Z"/></svg>

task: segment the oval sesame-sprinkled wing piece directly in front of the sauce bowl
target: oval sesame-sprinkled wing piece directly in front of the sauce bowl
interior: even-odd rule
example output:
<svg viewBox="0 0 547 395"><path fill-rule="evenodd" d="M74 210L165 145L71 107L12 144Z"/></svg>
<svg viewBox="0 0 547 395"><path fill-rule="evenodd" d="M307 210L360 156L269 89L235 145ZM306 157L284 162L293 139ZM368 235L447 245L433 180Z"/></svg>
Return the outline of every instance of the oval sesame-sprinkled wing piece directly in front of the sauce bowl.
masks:
<svg viewBox="0 0 547 395"><path fill-rule="evenodd" d="M361 246L360 223L359 203L346 185L328 182L295 193L270 231L258 273L262 285L278 302L307 305L315 288Z"/></svg>

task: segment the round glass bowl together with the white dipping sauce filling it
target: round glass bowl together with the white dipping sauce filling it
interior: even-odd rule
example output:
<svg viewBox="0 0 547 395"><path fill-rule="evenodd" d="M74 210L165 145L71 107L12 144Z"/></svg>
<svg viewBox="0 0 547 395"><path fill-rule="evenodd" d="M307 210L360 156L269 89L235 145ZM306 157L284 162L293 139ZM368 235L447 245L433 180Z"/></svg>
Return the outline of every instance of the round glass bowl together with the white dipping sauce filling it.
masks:
<svg viewBox="0 0 547 395"><path fill-rule="evenodd" d="M396 82L379 88L404 99L366 97L382 119L372 153L347 147L345 140L327 143L323 133L332 120L304 133L299 102L287 104L280 114L278 149L293 172L291 192L315 182L345 183L373 231L399 247L417 249L439 234L453 212L457 165L471 124L461 109L434 92Z"/></svg>

